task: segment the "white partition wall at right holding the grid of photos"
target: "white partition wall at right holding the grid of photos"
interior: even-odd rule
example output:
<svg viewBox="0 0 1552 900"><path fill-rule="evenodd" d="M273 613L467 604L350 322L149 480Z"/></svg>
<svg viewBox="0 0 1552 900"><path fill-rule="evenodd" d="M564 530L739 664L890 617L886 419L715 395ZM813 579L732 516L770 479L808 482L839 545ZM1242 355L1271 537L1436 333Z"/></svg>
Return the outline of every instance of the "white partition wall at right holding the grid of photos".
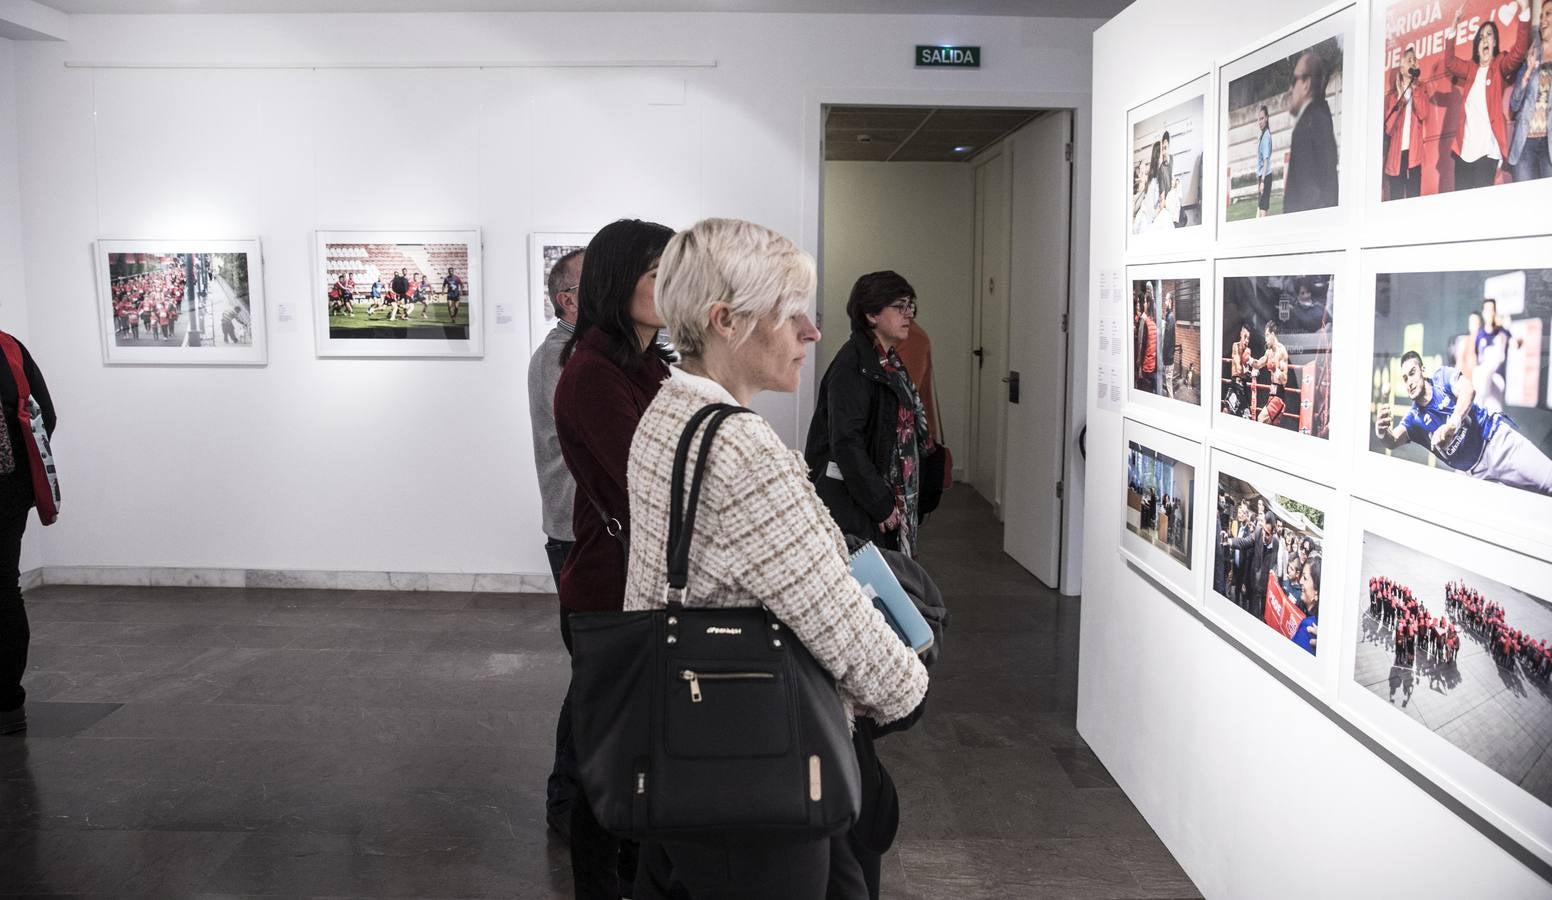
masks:
<svg viewBox="0 0 1552 900"><path fill-rule="evenodd" d="M1207 0L1138 0L1096 33L1091 321L1125 315L1100 275L1124 272L1127 110L1322 6L1246 0L1225 16ZM1333 241L1356 251L1356 237ZM1535 871L1122 563L1122 419L1090 396L1088 424L1079 731L1201 891L1547 897Z"/></svg>

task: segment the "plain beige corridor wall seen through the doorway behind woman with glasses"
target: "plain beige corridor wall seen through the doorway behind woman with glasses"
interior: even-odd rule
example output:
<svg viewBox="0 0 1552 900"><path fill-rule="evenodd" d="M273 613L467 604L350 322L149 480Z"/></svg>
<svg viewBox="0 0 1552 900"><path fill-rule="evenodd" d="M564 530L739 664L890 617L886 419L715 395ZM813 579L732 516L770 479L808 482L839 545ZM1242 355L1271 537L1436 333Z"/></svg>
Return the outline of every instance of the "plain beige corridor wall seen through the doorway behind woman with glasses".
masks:
<svg viewBox="0 0 1552 900"><path fill-rule="evenodd" d="M850 337L857 276L894 268L933 340L937 416L950 448L970 447L975 168L967 163L824 164L824 313L818 374ZM807 427L807 424L804 424Z"/></svg>

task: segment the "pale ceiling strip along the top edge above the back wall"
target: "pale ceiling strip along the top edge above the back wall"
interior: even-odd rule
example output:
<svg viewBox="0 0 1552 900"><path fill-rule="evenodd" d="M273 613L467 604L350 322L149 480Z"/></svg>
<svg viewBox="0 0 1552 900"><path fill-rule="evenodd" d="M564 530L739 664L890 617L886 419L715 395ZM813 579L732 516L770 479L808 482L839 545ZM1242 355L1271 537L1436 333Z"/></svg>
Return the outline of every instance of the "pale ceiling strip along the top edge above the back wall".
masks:
<svg viewBox="0 0 1552 900"><path fill-rule="evenodd" d="M1131 0L39 0L61 12L861 12L1110 19Z"/></svg>

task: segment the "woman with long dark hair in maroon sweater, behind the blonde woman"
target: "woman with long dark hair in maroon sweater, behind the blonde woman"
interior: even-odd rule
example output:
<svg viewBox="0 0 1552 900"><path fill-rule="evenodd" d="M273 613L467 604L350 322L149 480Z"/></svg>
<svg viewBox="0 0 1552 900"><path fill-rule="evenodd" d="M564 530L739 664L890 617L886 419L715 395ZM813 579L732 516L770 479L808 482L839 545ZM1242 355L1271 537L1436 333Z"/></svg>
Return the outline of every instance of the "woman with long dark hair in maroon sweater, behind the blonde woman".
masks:
<svg viewBox="0 0 1552 900"><path fill-rule="evenodd" d="M621 219L605 225L582 258L576 332L560 351L556 436L576 479L571 509L576 543L560 569L560 638L571 649L570 614L616 611L625 602L630 507L625 461L636 424L670 354L656 343L663 320L655 295L658 258L674 230ZM579 898L630 895L635 844L621 844L593 816L580 793L571 804L571 875Z"/></svg>

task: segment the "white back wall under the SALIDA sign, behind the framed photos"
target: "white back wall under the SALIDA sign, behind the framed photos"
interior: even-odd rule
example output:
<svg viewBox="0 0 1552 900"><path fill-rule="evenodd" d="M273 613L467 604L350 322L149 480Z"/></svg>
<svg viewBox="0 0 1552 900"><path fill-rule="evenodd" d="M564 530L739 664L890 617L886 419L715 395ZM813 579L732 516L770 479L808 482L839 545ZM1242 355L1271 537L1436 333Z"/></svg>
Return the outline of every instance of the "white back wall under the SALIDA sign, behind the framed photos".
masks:
<svg viewBox="0 0 1552 900"><path fill-rule="evenodd" d="M26 335L62 419L42 565L546 573L531 231L737 216L818 251L823 102L1086 106L1096 25L76 16L68 42L14 45L0 146L19 146ZM931 42L986 64L913 70ZM483 230L481 301L514 323L489 324L480 360L317 358L312 231L419 225ZM261 237L268 365L104 368L98 236ZM798 442L812 372L756 407Z"/></svg>

